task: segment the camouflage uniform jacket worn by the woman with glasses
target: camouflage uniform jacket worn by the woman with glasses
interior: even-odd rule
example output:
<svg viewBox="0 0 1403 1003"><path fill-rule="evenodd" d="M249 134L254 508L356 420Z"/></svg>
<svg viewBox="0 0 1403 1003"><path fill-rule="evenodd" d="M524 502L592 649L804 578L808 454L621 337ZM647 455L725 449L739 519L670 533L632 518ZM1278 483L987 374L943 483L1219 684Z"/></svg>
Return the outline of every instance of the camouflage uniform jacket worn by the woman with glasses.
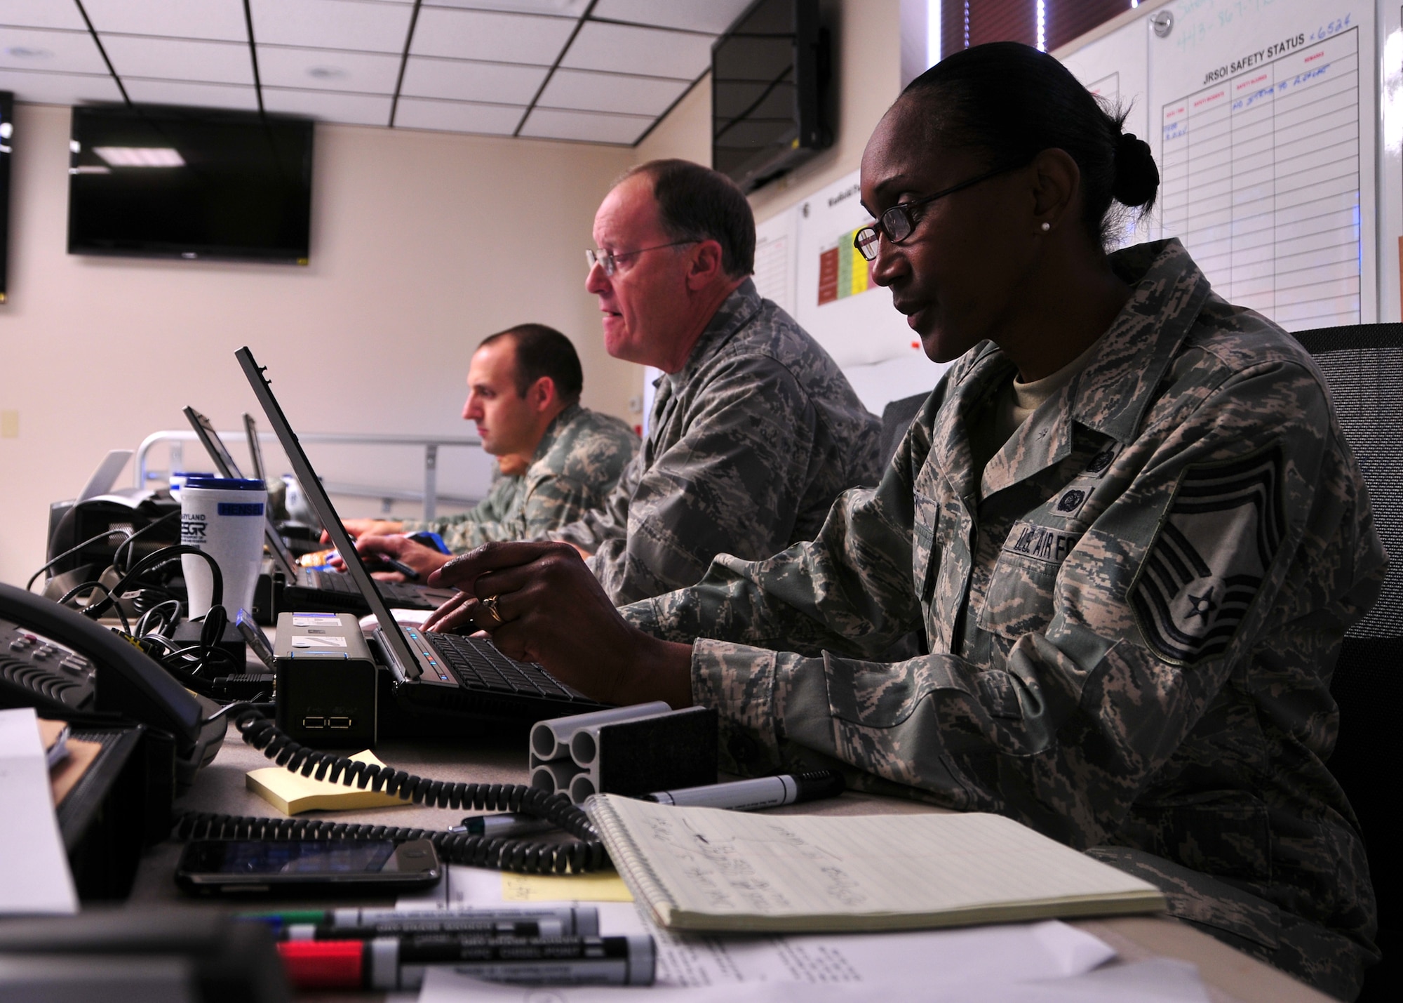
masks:
<svg viewBox="0 0 1403 1003"><path fill-rule="evenodd" d="M1364 846L1324 766L1340 639L1386 565L1364 480L1289 336L1214 295L1177 240L1111 261L1129 302L982 480L969 427L1013 375L989 343L814 542L720 558L626 615L713 638L692 693L721 711L727 768L832 757L870 789L1136 847L1368 945ZM930 653L881 663L916 627Z"/></svg>

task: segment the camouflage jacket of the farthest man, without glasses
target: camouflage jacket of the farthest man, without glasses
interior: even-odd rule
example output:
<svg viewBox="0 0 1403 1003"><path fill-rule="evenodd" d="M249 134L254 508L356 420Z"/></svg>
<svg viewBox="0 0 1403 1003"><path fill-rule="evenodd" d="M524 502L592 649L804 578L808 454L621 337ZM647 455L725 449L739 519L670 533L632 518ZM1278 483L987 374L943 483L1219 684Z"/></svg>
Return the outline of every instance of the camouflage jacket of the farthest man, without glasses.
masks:
<svg viewBox="0 0 1403 1003"><path fill-rule="evenodd" d="M627 424L571 405L540 437L525 475L498 473L471 511L407 521L404 531L438 532L455 553L490 539L543 539L603 504L637 450L638 437Z"/></svg>

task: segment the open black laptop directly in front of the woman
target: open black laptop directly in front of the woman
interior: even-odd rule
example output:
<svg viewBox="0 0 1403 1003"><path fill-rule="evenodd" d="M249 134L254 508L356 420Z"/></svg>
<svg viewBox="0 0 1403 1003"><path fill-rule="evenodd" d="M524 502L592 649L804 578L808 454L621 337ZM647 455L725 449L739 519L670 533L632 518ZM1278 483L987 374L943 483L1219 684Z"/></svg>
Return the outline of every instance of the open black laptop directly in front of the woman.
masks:
<svg viewBox="0 0 1403 1003"><path fill-rule="evenodd" d="M345 558L347 573L361 589L380 625L375 638L394 677L394 695L401 708L418 708L436 715L462 715L477 721L533 722L603 707L556 680L539 664L506 657L485 638L429 634L418 627L397 624L380 594L384 583L372 579L361 562L355 544L341 525L331 499L311 469L253 353L240 348L234 357L248 376L254 396L262 405L278 441L282 442L292 462L292 472L302 483L307 500L330 534L331 542Z"/></svg>

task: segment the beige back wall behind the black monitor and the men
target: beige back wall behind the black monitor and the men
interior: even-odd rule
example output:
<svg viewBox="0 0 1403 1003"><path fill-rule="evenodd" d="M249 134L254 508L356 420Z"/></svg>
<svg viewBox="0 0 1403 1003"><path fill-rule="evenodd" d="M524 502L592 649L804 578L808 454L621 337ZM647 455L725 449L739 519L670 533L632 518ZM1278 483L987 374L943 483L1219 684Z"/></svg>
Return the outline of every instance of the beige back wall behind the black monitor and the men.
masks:
<svg viewBox="0 0 1403 1003"><path fill-rule="evenodd" d="M471 347L540 320L579 348L585 403L637 420L640 368L605 354L582 254L634 150L318 126L311 264L296 268L66 254L67 140L67 108L17 110L0 412L18 412L18 437L0 437L0 580L42 563L49 501L72 497L108 450L185 427L185 405L222 428L257 410L233 360L241 344L299 430L462 435ZM421 476L405 452L309 451L327 479ZM485 473L466 451L443 458L446 490L480 490Z"/></svg>

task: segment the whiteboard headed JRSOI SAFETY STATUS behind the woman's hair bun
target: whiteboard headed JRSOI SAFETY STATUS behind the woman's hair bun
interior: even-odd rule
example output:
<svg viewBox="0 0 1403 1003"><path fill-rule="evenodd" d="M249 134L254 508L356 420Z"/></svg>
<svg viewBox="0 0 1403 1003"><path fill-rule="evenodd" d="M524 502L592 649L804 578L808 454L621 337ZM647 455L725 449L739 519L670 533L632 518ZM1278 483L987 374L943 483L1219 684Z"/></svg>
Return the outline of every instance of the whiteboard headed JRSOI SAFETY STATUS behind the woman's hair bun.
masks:
<svg viewBox="0 0 1403 1003"><path fill-rule="evenodd" d="M1135 239L1179 237L1287 330L1379 317L1372 3L1177 0L1059 53L1152 136L1159 204Z"/></svg>

